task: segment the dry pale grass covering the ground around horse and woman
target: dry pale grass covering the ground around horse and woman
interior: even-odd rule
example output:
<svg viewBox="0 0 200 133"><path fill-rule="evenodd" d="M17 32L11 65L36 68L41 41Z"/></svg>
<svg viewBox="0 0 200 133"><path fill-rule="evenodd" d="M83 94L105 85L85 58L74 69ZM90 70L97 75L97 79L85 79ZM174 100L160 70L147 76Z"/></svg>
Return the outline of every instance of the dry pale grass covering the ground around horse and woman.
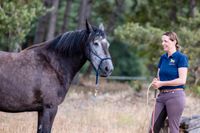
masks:
<svg viewBox="0 0 200 133"><path fill-rule="evenodd" d="M53 133L144 133L149 118L146 90L135 93L127 84L100 82L99 94L93 96L94 82L72 86L59 106ZM151 93L150 97L153 93ZM153 106L150 99L149 107ZM184 115L200 114L198 98L187 94ZM0 133L35 133L36 113L0 112Z"/></svg>

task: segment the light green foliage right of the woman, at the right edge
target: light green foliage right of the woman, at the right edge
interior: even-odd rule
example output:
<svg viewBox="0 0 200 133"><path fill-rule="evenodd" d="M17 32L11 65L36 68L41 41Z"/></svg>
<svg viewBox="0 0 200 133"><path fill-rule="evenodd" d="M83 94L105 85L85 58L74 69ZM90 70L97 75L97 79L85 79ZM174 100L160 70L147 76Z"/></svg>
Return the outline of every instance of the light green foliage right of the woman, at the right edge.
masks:
<svg viewBox="0 0 200 133"><path fill-rule="evenodd" d="M179 18L182 22L178 30L183 51L189 56L190 68L200 66L200 13L194 18Z"/></svg>

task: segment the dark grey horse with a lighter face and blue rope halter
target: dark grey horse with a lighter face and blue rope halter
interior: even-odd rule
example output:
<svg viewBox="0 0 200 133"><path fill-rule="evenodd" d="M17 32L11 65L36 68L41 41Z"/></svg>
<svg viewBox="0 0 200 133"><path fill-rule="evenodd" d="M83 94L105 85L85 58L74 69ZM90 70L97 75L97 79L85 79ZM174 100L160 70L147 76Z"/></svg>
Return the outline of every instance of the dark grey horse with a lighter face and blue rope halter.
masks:
<svg viewBox="0 0 200 133"><path fill-rule="evenodd" d="M0 111L38 112L37 133L51 133L75 74L88 60L100 76L113 71L102 24L63 33L18 53L0 52Z"/></svg>

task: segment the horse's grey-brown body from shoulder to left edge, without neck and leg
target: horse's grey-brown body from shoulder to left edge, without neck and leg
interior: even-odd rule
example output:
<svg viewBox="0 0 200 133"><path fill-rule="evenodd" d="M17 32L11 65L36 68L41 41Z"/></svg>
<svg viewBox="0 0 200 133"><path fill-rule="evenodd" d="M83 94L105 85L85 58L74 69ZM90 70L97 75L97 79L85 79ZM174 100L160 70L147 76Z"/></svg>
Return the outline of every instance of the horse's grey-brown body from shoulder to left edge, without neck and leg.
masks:
<svg viewBox="0 0 200 133"><path fill-rule="evenodd" d="M62 86L39 51L0 52L0 110L24 111L60 103Z"/></svg>

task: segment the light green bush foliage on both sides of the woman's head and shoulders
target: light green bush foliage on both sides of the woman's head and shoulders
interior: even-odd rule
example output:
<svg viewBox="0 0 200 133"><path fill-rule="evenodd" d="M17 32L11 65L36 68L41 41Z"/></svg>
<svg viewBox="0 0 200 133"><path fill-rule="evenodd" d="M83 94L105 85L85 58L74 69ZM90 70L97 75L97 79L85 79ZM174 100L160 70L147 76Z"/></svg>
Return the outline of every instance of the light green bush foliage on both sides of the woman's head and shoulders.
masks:
<svg viewBox="0 0 200 133"><path fill-rule="evenodd" d="M196 18L192 21L190 18L188 23L185 22L184 25L186 26L177 26L176 32L180 38L182 52L189 57L190 69L194 69L200 65L200 59L198 58L200 57L200 30L192 27L200 25L200 21ZM148 67L150 71L152 70L154 72L156 72L155 68L159 56L163 53L160 47L160 38L163 33L164 31L162 31L162 29L150 25L141 26L138 23L127 23L119 26L115 30L115 35L119 39L136 49L135 54L147 59L145 66ZM131 53L131 51L129 52ZM151 73L151 75L152 74L155 75L155 73Z"/></svg>

